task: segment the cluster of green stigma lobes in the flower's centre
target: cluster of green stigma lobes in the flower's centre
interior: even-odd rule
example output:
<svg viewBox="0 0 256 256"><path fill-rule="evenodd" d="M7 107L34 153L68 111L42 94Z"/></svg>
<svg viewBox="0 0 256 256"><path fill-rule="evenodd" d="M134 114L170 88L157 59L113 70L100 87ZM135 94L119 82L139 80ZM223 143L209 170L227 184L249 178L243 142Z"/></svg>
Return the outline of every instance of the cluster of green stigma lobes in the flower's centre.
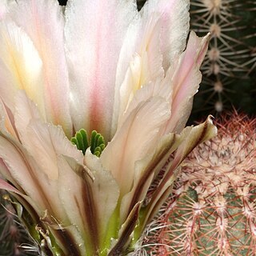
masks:
<svg viewBox="0 0 256 256"><path fill-rule="evenodd" d="M77 131L74 137L71 138L71 142L77 146L78 150L82 151L82 154L86 154L87 148L90 147L91 153L97 157L100 157L106 146L102 134L99 134L96 130L91 132L90 142L84 129Z"/></svg>

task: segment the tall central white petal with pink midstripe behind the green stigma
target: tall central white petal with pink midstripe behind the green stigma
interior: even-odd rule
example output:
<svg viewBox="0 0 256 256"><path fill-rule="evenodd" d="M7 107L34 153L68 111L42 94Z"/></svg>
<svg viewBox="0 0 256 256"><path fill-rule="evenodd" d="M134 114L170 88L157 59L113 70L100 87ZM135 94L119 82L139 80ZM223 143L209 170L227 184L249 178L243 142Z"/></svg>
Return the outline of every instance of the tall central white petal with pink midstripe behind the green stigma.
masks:
<svg viewBox="0 0 256 256"><path fill-rule="evenodd" d="M70 0L66 6L74 128L98 130L110 140L119 52L136 14L134 1Z"/></svg>

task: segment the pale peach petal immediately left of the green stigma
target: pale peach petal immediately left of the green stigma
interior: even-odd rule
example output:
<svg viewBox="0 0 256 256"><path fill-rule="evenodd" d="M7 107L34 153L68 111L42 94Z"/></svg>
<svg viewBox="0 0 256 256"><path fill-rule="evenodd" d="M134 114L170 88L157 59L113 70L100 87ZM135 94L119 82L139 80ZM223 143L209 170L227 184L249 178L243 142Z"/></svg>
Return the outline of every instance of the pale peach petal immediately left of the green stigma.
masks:
<svg viewBox="0 0 256 256"><path fill-rule="evenodd" d="M66 138L62 127L43 123L36 106L26 97L26 94L18 94L14 118L22 145L48 178L53 180L58 178L59 154L82 162L82 152Z"/></svg>

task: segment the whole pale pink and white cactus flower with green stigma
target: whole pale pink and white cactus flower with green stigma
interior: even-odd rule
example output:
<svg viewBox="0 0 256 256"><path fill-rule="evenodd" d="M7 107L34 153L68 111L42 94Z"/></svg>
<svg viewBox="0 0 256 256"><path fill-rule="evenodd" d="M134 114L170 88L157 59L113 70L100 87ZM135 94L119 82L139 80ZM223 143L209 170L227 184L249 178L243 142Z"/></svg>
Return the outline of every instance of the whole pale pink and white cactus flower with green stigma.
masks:
<svg viewBox="0 0 256 256"><path fill-rule="evenodd" d="M0 4L0 188L42 255L124 255L178 166L209 35L188 0ZM159 178L161 177L161 178Z"/></svg>

